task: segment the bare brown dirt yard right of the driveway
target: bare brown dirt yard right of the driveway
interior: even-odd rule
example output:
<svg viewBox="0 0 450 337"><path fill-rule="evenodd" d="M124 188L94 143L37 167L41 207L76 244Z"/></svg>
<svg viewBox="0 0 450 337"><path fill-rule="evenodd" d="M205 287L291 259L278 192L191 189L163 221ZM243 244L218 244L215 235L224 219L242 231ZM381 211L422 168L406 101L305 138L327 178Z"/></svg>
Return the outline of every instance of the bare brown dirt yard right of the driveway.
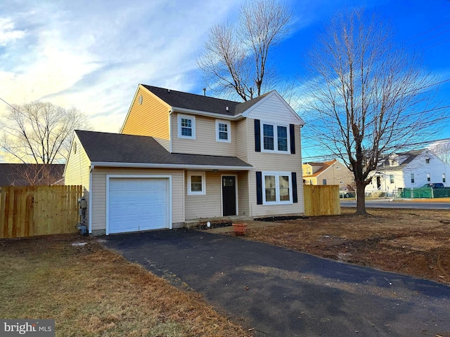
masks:
<svg viewBox="0 0 450 337"><path fill-rule="evenodd" d="M285 220L250 229L247 238L450 284L450 211L368 212Z"/></svg>

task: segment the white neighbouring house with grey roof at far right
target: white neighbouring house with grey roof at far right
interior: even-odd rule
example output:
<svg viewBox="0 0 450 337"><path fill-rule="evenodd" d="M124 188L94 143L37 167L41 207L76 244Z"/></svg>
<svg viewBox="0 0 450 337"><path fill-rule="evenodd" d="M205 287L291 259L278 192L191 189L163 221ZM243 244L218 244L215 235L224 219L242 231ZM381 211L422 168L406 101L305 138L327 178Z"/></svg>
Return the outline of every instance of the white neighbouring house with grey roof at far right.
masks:
<svg viewBox="0 0 450 337"><path fill-rule="evenodd" d="M404 187L422 187L426 183L449 185L450 165L444 164L428 149L391 154L380 160L366 193L386 192Z"/></svg>

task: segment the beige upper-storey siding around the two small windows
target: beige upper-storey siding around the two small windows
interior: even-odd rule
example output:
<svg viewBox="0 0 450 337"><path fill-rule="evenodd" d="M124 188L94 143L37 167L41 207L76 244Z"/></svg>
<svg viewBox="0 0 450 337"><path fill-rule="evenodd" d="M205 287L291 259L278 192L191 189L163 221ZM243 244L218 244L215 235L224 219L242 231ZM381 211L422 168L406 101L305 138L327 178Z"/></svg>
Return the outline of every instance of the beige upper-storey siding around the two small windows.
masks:
<svg viewBox="0 0 450 337"><path fill-rule="evenodd" d="M209 154L212 156L236 157L236 122L231 121L231 143L216 141L216 119L199 115L195 117L195 140L178 138L178 114L172 114L172 152Z"/></svg>

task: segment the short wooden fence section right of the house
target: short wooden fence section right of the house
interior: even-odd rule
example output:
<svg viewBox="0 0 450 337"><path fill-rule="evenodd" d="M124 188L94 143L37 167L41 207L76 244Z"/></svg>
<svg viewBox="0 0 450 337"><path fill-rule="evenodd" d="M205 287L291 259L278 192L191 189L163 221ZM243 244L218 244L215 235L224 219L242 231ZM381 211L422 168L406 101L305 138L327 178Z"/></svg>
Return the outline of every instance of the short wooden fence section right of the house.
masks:
<svg viewBox="0 0 450 337"><path fill-rule="evenodd" d="M340 214L338 185L303 185L303 199L305 216Z"/></svg>

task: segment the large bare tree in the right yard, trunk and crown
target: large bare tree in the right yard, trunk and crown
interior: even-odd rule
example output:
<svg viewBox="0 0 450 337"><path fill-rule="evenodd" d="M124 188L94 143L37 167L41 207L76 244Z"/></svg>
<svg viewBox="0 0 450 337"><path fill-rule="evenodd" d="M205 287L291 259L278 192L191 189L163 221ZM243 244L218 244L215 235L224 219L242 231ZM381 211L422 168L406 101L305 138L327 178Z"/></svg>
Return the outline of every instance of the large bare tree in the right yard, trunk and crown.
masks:
<svg viewBox="0 0 450 337"><path fill-rule="evenodd" d="M381 155L426 137L436 117L427 106L434 79L417 54L394 44L385 22L361 9L336 15L309 60L309 138L352 171L356 213L366 214L364 190Z"/></svg>

